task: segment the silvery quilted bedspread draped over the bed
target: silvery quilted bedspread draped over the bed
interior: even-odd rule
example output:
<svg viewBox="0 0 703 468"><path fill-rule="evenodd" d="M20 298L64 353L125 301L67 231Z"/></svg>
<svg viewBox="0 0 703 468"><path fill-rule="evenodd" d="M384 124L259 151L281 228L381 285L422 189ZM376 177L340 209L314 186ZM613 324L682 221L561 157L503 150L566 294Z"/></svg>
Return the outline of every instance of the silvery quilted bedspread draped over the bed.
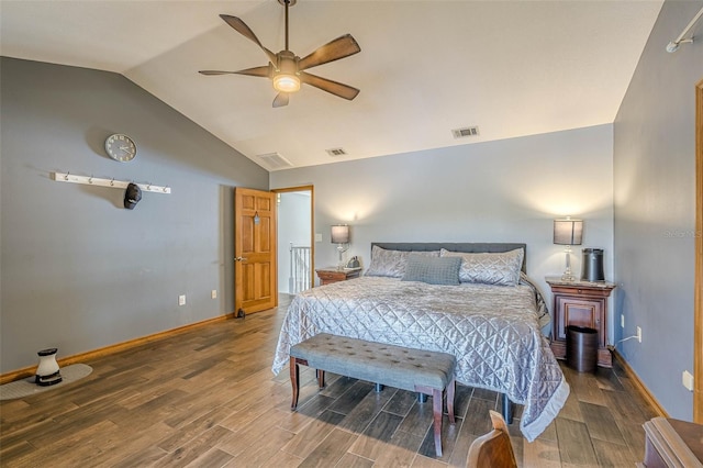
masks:
<svg viewBox="0 0 703 468"><path fill-rule="evenodd" d="M319 333L449 353L457 358L457 381L524 405L520 427L532 442L569 394L540 333L537 303L527 285L433 286L361 277L313 288L288 309L272 370L288 364L292 345Z"/></svg>

